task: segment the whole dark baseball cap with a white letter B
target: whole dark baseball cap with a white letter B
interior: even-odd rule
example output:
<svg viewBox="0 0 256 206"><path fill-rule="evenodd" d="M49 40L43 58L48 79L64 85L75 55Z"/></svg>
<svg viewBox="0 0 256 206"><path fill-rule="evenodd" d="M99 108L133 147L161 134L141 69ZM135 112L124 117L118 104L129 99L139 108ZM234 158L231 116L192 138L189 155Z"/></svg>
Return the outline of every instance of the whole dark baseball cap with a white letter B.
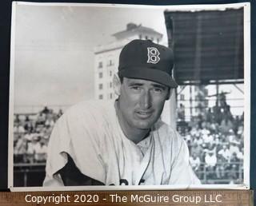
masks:
<svg viewBox="0 0 256 206"><path fill-rule="evenodd" d="M136 39L124 46L120 53L118 75L177 88L172 77L173 66L174 55L170 48L150 40Z"/></svg>

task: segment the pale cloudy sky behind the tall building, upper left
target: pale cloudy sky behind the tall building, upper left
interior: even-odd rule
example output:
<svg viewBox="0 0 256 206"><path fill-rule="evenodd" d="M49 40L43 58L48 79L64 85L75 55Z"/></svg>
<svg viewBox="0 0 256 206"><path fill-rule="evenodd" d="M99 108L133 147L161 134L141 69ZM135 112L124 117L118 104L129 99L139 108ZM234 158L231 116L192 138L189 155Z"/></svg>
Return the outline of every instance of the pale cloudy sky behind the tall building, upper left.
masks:
<svg viewBox="0 0 256 206"><path fill-rule="evenodd" d="M94 47L134 22L164 34L163 9L17 6L14 105L73 105L94 97Z"/></svg>

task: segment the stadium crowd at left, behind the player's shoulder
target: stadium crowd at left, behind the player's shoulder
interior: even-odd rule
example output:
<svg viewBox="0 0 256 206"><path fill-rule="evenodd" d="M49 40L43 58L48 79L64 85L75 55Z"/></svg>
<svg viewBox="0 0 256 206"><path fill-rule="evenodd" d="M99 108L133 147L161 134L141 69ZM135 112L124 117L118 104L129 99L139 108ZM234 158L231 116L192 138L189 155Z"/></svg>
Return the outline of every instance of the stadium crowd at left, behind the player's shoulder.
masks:
<svg viewBox="0 0 256 206"><path fill-rule="evenodd" d="M46 161L47 144L62 109L54 113L45 107L37 114L14 116L14 163L41 163Z"/></svg>

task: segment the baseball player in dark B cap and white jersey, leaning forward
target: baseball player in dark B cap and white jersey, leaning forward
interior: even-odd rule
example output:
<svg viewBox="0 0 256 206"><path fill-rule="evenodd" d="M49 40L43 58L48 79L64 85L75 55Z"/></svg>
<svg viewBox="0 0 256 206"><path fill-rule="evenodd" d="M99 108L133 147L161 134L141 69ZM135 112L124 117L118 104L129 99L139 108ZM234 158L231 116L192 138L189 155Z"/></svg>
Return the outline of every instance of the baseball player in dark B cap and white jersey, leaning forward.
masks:
<svg viewBox="0 0 256 206"><path fill-rule="evenodd" d="M173 53L148 40L122 49L115 101L83 101L56 123L45 186L200 184L185 141L161 121L178 85Z"/></svg>

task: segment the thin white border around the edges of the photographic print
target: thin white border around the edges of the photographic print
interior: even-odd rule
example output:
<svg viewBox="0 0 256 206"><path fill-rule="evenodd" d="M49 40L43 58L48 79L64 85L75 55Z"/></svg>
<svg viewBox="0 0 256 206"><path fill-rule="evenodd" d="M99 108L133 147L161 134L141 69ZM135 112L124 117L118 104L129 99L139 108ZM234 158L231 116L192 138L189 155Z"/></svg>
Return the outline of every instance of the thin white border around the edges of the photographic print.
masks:
<svg viewBox="0 0 256 206"><path fill-rule="evenodd" d="M199 10L226 10L244 8L244 184L202 184L190 185L154 185L154 186L65 186L65 187L14 187L14 59L15 59L15 30L17 6L98 6L119 8L164 8L168 11L199 11ZM9 110L9 155L8 155L8 187L15 192L28 191L112 191L112 190L166 190L166 189L250 189L250 2L234 4L212 5L179 5L179 6L145 6L145 5L122 5L122 4L94 4L94 3L38 3L38 2L13 2L11 22L10 44L10 110Z"/></svg>

